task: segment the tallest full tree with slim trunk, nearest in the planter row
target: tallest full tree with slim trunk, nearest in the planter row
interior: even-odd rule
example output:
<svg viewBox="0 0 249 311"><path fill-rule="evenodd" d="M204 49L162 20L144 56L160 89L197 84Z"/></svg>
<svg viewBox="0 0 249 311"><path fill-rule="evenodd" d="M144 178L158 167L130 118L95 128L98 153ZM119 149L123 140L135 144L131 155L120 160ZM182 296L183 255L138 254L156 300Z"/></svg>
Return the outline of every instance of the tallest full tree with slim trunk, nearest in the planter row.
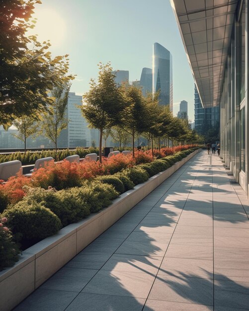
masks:
<svg viewBox="0 0 249 311"><path fill-rule="evenodd" d="M100 132L99 161L102 162L103 131L120 122L119 115L124 108L124 101L110 63L99 63L98 67L98 83L94 79L90 80L90 90L83 95L84 103L80 108L89 125Z"/></svg>

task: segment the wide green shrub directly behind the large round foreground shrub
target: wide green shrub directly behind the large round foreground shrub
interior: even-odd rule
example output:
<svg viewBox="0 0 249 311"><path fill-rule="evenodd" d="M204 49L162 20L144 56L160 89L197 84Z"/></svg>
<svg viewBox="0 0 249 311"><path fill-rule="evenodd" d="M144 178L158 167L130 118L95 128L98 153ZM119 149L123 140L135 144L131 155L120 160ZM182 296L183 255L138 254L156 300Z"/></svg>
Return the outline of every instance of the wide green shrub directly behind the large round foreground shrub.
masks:
<svg viewBox="0 0 249 311"><path fill-rule="evenodd" d="M76 223L90 214L86 201L79 200L71 189L54 192L42 188L30 188L24 200L28 204L32 204L32 201L41 203L50 209L59 217L63 227Z"/></svg>

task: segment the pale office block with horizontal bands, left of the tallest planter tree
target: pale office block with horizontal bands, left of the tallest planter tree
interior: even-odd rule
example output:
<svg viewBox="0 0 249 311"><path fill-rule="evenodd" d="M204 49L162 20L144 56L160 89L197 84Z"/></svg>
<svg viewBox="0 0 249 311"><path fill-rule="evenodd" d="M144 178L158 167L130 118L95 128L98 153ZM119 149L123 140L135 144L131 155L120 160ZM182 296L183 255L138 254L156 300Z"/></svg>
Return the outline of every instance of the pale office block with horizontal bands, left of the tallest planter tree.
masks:
<svg viewBox="0 0 249 311"><path fill-rule="evenodd" d="M88 147L91 146L90 129L87 127L88 124L77 105L82 105L82 96L69 92L67 109L67 118L69 119L68 147Z"/></svg>

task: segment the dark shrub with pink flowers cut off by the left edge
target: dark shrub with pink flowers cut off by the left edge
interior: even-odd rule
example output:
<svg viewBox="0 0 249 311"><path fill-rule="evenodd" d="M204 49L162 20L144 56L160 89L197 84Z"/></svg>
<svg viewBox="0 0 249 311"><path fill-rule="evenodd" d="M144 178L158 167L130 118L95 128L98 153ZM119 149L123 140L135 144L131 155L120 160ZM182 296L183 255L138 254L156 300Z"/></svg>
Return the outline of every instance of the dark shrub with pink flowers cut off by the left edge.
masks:
<svg viewBox="0 0 249 311"><path fill-rule="evenodd" d="M0 218L0 271L12 266L18 260L19 250L12 240L12 235L6 227L7 219Z"/></svg>

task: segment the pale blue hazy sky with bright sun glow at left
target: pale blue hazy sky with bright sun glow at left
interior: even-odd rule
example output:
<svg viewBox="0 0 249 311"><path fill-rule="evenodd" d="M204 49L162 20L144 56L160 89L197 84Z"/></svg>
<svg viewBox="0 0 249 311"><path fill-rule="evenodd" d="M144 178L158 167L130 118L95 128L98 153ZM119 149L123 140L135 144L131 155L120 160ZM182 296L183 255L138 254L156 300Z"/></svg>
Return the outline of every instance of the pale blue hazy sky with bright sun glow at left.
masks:
<svg viewBox="0 0 249 311"><path fill-rule="evenodd" d="M160 43L172 54L174 115L184 99L194 120L194 80L169 0L42 0L33 17L30 33L50 39L53 56L69 54L77 94L97 78L99 62L139 80L144 67L152 68L153 43Z"/></svg>

